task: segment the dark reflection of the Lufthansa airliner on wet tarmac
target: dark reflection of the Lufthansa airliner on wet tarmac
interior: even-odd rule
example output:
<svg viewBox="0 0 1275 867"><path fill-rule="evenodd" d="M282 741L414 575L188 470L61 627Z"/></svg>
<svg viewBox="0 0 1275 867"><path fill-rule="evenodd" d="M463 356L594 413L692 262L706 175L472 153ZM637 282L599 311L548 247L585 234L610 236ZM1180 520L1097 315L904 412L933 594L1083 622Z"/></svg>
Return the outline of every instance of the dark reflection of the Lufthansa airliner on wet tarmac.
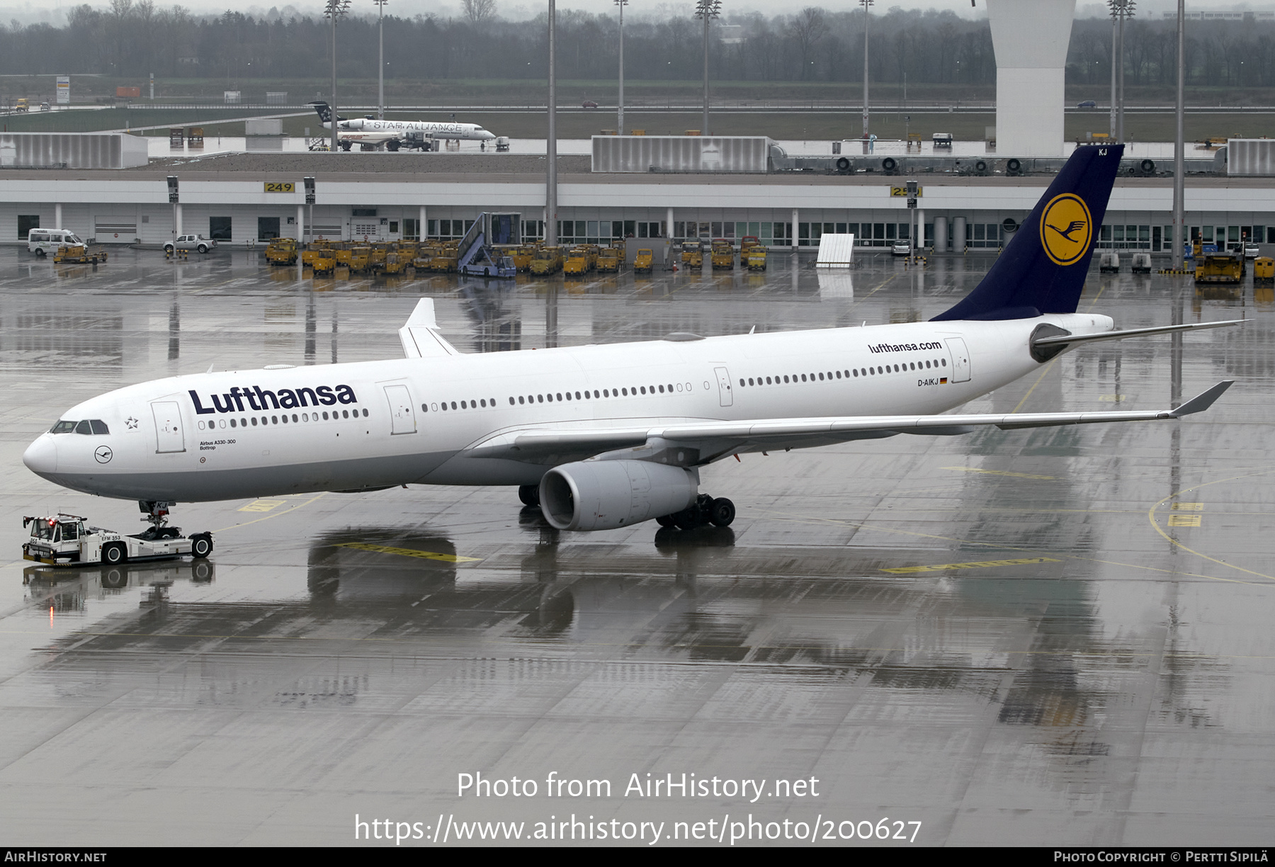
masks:
<svg viewBox="0 0 1275 867"><path fill-rule="evenodd" d="M311 653L324 655L357 646L362 655L428 658L464 638L483 658L533 652L583 664L737 663L776 682L829 690L955 690L998 705L998 723L1054 732L1057 742L1046 738L1046 746L1063 765L1109 755L1112 745L1089 728L1121 713L1122 690L1104 681L1119 672L1139 677L1146 649L1104 638L1085 580L882 575L896 553L738 547L728 528L662 530L649 553L616 552L572 546L550 529L529 553L513 555L515 562L486 564L507 567L501 578L473 579L464 572L477 558L458 556L444 534L349 528L311 543L309 601L173 603L145 623L121 618L126 635L99 627L98 638L64 641L82 652L101 644L233 654L241 641L307 635ZM83 570L59 583L41 572L28 583L38 606L89 593L98 581L115 589L124 579L127 586L212 580L196 566L133 567L122 578ZM941 626L949 622L980 626L951 636ZM212 636L219 648L209 646ZM1187 685L1225 678L1227 664L1169 649L1163 666L1170 688L1158 713L1207 725ZM371 688L375 682L363 687Z"/></svg>

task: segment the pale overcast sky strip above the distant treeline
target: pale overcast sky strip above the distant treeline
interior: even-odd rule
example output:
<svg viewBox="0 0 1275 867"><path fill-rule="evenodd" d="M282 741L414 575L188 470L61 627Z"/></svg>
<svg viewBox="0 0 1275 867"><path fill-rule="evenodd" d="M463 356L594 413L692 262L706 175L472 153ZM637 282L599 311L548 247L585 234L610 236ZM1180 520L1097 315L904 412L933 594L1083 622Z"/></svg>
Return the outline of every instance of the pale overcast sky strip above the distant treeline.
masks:
<svg viewBox="0 0 1275 867"><path fill-rule="evenodd" d="M969 0L876 0L875 9L880 13L885 9L894 6L901 6L904 9L950 9L958 15L963 17L982 17L986 14L987 3L986 0L977 0L977 8L970 8ZM61 3L55 0L54 3L5 3L0 0L0 22L8 23L17 19L23 24L31 24L34 22L47 22L54 26L61 26L66 20L66 10L74 3ZM105 9L105 3L89 3L91 6ZM164 3L163 0L157 0L156 3L159 8L171 6L172 4ZM323 4L305 0L287 3L260 3L259 0L186 0L181 5L186 6L196 14L218 14L227 9L233 9L237 11L250 13L254 15L260 15L272 8L279 10L295 9L301 14L319 15ZM667 3L664 0L630 0L626 11L629 15L659 15L667 18L674 14L686 14L688 9L694 6L694 0L681 0L681 3ZM824 9L854 9L858 6L856 0L811 0L810 3L801 1L799 5L784 0L723 0L723 11L731 14L732 11L760 11L766 15L776 15L784 13L792 13L799 6L816 5ZM504 18L513 20L521 20L527 18L533 18L546 9L546 3L527 3L527 0L497 0L497 14ZM557 0L558 9L584 9L595 14L613 14L615 3L612 0ZM385 6L388 13L397 15L419 15L419 14L433 14L444 18L459 17L460 15L460 0L389 0ZM1162 13L1172 11L1177 9L1176 0L1139 0L1137 10L1139 14L1151 15L1154 18L1160 18ZM1224 0L1188 0L1188 10L1201 10L1201 9L1275 9L1275 3L1227 3ZM351 11L353 14L366 13L367 15L375 15L376 8L371 0L353 0L351 4ZM1077 18L1091 18L1095 15L1105 14L1105 4L1103 3L1086 3L1086 0L1079 0L1076 4L1076 17Z"/></svg>

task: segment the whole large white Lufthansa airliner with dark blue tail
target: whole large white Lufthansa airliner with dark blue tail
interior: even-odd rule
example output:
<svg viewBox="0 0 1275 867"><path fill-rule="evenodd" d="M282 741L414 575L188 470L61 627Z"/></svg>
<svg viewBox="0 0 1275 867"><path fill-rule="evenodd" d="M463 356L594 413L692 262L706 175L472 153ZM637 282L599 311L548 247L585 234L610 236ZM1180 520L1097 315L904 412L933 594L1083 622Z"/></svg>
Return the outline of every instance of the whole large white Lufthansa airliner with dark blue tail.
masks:
<svg viewBox="0 0 1275 867"><path fill-rule="evenodd" d="M927 323L463 354L422 300L405 360L208 372L73 407L23 460L57 484L173 502L405 484L519 486L562 530L655 519L727 525L699 468L741 453L898 433L1177 419L1218 382L1145 412L940 414L1090 340L1232 323L1114 330L1077 314L1119 166L1080 147L984 279Z"/></svg>

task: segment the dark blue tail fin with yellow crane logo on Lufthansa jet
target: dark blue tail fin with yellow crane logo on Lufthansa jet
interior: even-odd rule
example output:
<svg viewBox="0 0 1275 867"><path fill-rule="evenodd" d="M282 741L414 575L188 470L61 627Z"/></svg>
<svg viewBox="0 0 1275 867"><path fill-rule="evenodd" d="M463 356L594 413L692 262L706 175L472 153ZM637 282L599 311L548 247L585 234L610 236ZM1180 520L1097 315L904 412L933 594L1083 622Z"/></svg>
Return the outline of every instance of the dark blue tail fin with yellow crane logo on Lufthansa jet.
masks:
<svg viewBox="0 0 1275 867"><path fill-rule="evenodd" d="M1122 144L1076 148L987 277L933 321L1076 312L1123 152Z"/></svg>

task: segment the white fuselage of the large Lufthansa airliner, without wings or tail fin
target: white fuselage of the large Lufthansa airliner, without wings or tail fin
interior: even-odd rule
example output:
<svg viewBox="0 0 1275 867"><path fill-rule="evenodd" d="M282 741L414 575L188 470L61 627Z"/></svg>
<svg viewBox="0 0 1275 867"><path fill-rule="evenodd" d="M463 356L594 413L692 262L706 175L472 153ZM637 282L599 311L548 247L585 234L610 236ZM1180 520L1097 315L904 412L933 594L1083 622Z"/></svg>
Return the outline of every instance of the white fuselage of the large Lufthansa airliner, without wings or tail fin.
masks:
<svg viewBox="0 0 1275 867"><path fill-rule="evenodd" d="M1038 368L1042 323L1112 329L1053 314L173 376L73 407L62 419L110 432L45 433L24 460L78 491L175 502L534 484L552 462L469 450L538 428L938 413Z"/></svg>

